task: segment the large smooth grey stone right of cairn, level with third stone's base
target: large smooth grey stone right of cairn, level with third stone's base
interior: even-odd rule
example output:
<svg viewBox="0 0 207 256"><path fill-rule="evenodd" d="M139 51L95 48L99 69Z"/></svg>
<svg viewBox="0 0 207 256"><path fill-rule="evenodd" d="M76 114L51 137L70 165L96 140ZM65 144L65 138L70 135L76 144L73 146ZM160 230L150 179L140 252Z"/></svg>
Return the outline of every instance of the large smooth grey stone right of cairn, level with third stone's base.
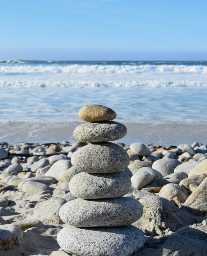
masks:
<svg viewBox="0 0 207 256"><path fill-rule="evenodd" d="M152 168L155 169L156 171L160 172L163 177L171 174L174 172L174 169L180 165L181 162L179 162L176 159L160 159L155 161L152 164Z"/></svg>

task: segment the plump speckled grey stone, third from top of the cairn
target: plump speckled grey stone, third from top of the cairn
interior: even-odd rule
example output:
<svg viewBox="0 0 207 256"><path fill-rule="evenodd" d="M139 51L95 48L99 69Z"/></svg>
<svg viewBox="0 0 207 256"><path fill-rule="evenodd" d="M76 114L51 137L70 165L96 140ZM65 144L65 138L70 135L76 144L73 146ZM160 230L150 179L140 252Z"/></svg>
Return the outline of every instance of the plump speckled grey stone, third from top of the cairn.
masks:
<svg viewBox="0 0 207 256"><path fill-rule="evenodd" d="M81 147L71 156L73 166L81 172L119 172L130 162L123 147L111 143L93 143Z"/></svg>

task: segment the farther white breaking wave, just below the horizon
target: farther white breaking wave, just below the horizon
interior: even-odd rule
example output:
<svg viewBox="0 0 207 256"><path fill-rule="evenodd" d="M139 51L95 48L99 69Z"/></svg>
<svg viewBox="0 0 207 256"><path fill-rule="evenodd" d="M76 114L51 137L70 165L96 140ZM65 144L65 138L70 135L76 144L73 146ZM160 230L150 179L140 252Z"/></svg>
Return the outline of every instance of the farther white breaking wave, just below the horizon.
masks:
<svg viewBox="0 0 207 256"><path fill-rule="evenodd" d="M19 61L18 61L19 63ZM24 62L25 63L25 62ZM202 65L2 65L1 74L24 73L69 73L69 74L139 74L139 73L202 73L207 74L207 66Z"/></svg>

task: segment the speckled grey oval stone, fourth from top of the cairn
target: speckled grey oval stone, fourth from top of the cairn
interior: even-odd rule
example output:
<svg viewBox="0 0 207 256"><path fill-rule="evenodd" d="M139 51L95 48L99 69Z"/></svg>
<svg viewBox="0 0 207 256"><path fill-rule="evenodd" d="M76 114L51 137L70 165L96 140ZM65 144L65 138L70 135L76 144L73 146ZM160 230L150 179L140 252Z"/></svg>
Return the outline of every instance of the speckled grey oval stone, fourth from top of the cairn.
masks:
<svg viewBox="0 0 207 256"><path fill-rule="evenodd" d="M115 198L128 193L131 185L124 172L81 172L70 180L69 190L75 197L83 199Z"/></svg>

